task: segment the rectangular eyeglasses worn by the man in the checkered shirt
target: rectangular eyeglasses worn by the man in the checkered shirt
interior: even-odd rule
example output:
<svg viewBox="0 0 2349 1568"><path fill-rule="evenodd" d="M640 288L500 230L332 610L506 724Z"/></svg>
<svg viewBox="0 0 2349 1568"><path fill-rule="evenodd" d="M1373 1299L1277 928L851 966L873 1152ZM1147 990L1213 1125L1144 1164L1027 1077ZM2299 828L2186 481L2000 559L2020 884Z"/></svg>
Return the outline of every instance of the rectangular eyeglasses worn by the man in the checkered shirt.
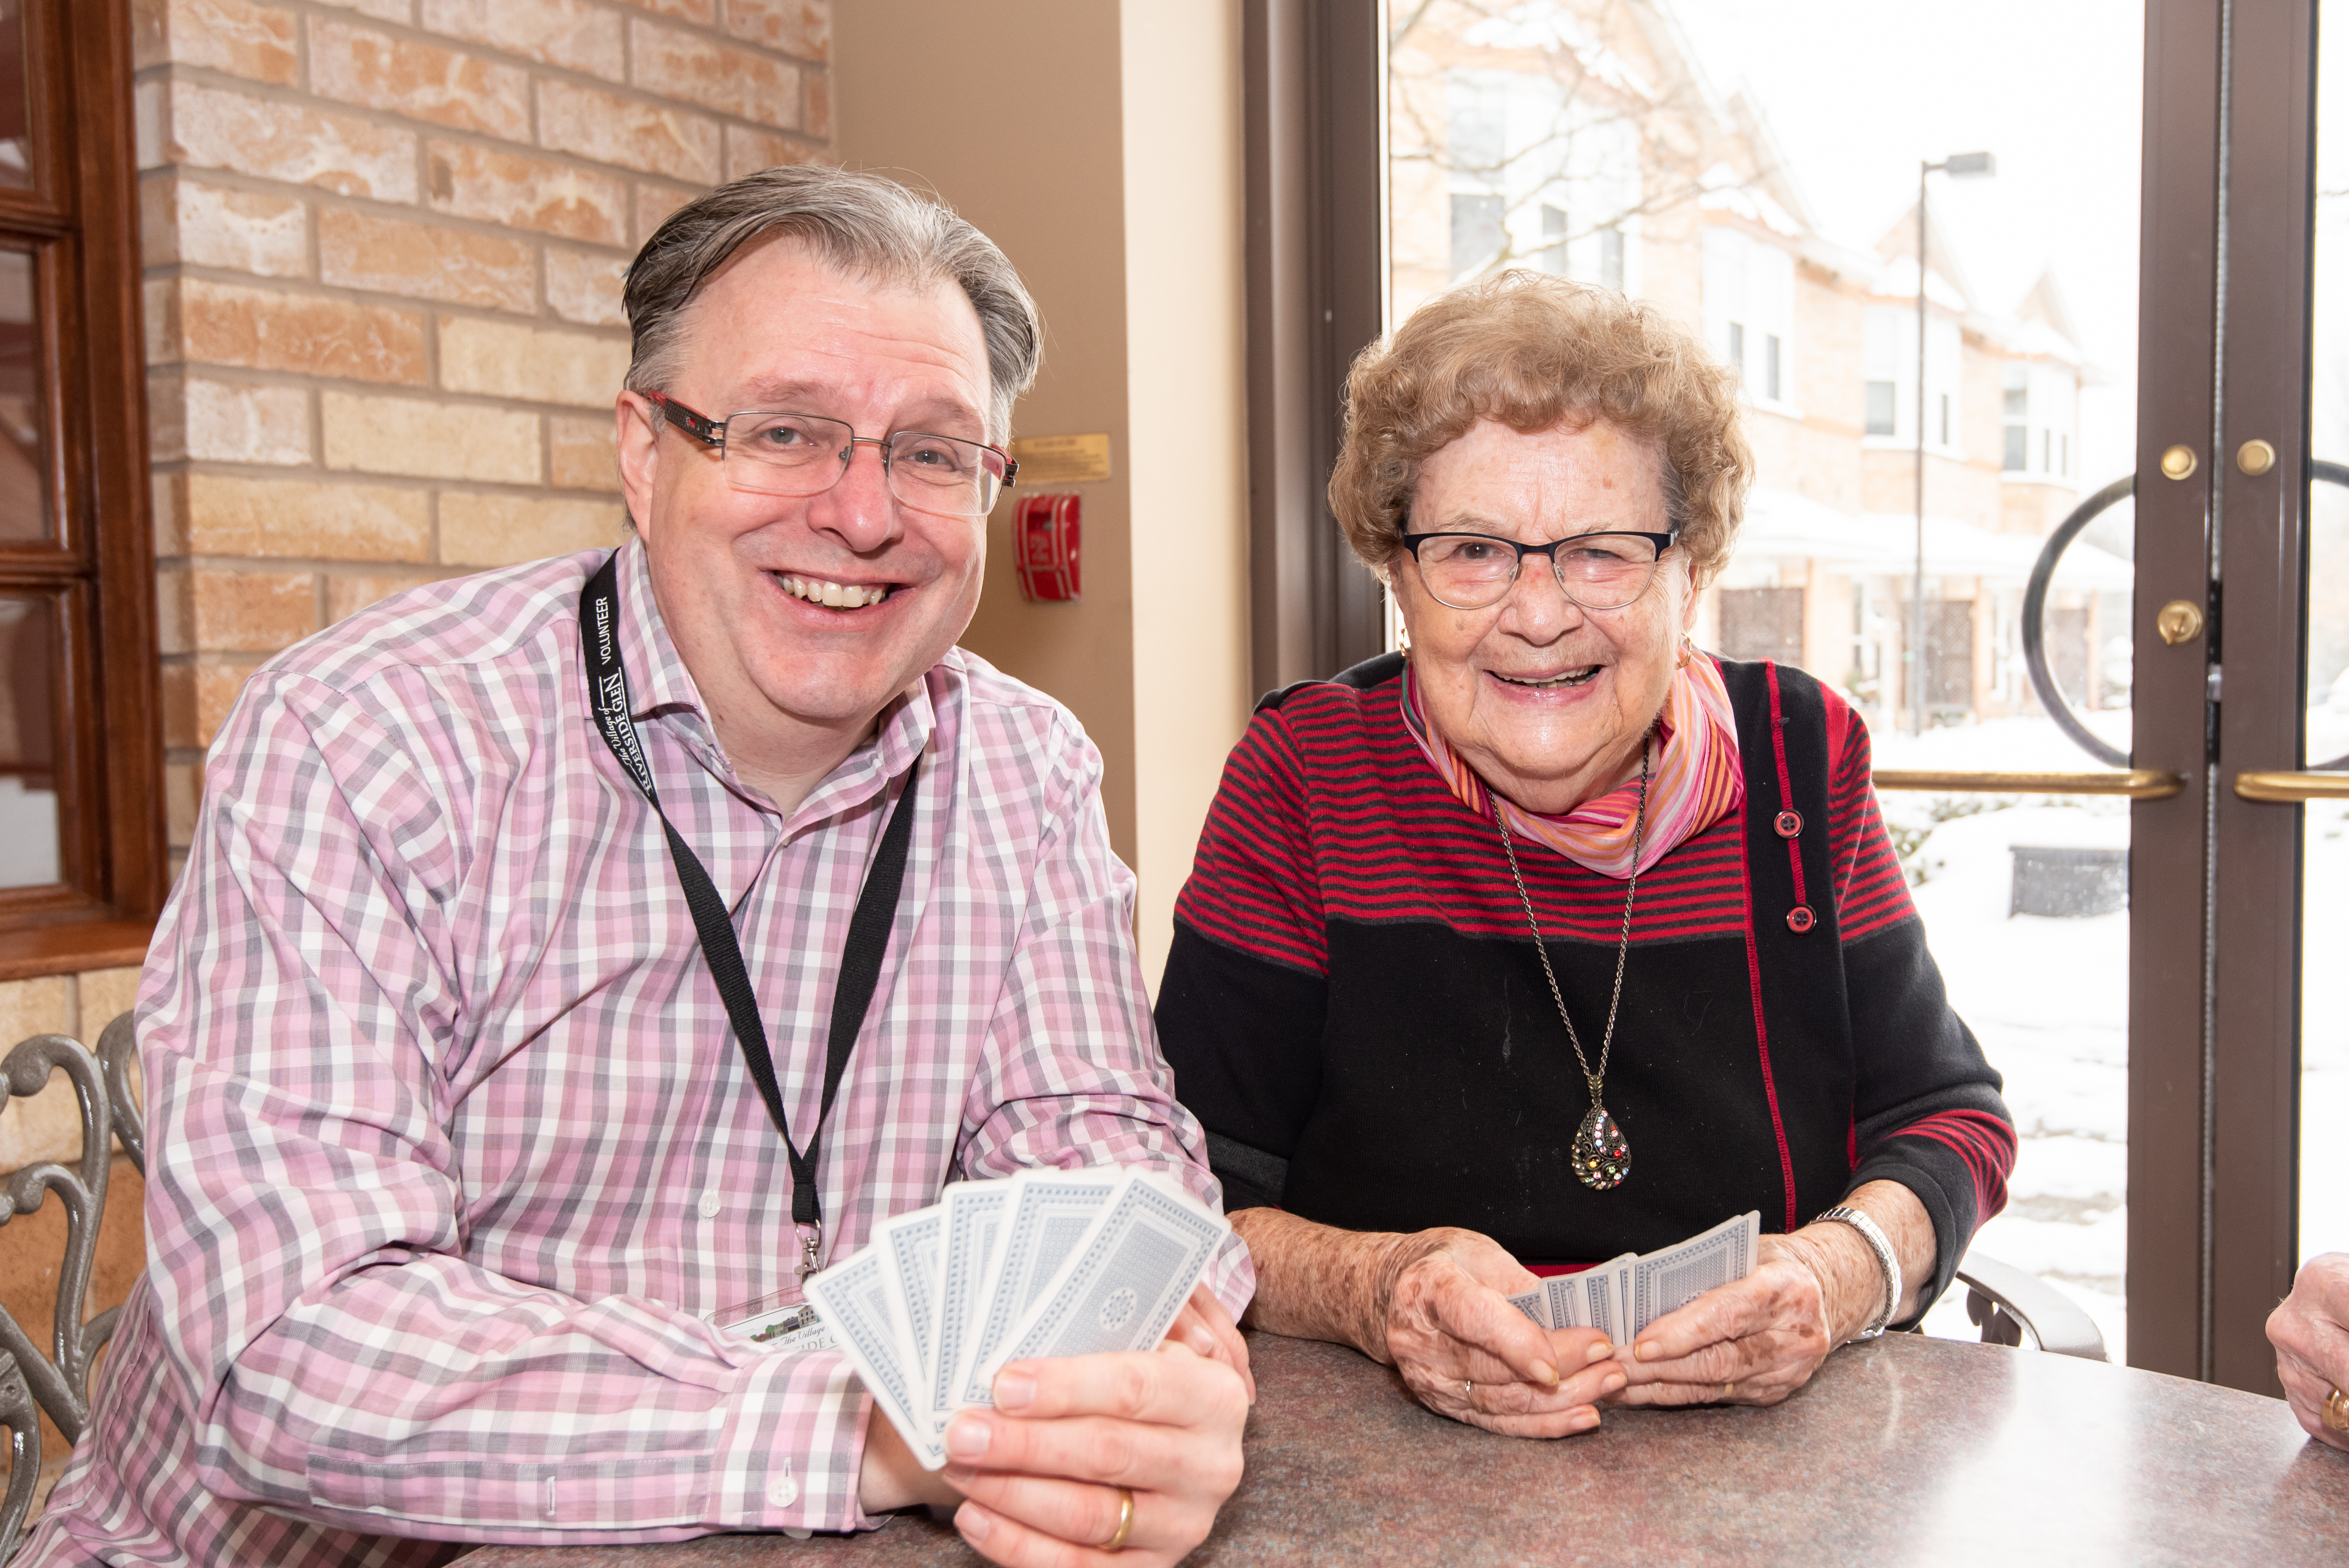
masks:
<svg viewBox="0 0 2349 1568"><path fill-rule="evenodd" d="M820 495L841 481L857 446L881 448L890 495L916 512L987 516L1019 465L1003 448L921 430L860 437L815 413L749 411L712 420L667 392L644 401L702 446L719 448L726 484L759 495Z"/></svg>

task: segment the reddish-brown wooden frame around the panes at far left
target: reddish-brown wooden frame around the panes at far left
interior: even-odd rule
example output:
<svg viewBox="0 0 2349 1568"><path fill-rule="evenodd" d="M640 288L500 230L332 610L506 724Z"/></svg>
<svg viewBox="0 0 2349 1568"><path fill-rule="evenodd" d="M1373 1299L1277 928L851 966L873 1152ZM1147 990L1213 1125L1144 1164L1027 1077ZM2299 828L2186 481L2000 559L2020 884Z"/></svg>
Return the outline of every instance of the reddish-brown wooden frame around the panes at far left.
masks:
<svg viewBox="0 0 2349 1568"><path fill-rule="evenodd" d="M0 545L0 587L63 606L61 880L0 890L0 981L139 962L169 887L129 9L23 5L33 185L0 244L40 256L54 530Z"/></svg>

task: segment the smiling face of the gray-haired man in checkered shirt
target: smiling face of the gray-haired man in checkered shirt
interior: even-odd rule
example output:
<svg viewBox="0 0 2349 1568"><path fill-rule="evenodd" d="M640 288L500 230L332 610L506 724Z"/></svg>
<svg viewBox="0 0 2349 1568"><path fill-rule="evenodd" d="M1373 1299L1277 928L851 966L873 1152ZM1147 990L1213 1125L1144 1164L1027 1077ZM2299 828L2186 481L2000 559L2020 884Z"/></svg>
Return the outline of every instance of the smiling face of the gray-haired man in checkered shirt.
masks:
<svg viewBox="0 0 2349 1568"><path fill-rule="evenodd" d="M714 420L768 408L860 437L989 434L987 340L963 291L843 277L794 239L747 246L702 286L660 390ZM735 770L789 807L970 624L987 519L902 505L876 446L829 491L761 495L641 397L618 418L669 638Z"/></svg>

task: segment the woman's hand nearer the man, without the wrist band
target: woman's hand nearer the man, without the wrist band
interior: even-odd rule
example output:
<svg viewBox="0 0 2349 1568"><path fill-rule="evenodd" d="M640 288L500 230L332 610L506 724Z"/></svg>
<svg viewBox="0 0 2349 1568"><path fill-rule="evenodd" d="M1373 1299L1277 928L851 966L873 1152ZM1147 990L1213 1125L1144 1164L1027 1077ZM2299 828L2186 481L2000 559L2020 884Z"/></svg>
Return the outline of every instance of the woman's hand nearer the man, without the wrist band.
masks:
<svg viewBox="0 0 2349 1568"><path fill-rule="evenodd" d="M1506 1437L1567 1437L1600 1425L1623 1387L1597 1329L1539 1329L1506 1296L1536 1279L1473 1230L1398 1237L1386 1268L1386 1357L1438 1415ZM1564 1376L1560 1373L1564 1368Z"/></svg>

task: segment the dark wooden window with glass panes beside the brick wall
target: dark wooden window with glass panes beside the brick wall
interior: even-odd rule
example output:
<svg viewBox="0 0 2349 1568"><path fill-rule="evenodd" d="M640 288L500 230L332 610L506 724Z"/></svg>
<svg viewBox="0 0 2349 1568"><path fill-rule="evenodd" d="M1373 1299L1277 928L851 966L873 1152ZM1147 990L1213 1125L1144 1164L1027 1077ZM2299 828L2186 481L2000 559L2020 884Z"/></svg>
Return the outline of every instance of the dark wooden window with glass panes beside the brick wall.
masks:
<svg viewBox="0 0 2349 1568"><path fill-rule="evenodd" d="M127 28L0 0L0 934L164 892Z"/></svg>

